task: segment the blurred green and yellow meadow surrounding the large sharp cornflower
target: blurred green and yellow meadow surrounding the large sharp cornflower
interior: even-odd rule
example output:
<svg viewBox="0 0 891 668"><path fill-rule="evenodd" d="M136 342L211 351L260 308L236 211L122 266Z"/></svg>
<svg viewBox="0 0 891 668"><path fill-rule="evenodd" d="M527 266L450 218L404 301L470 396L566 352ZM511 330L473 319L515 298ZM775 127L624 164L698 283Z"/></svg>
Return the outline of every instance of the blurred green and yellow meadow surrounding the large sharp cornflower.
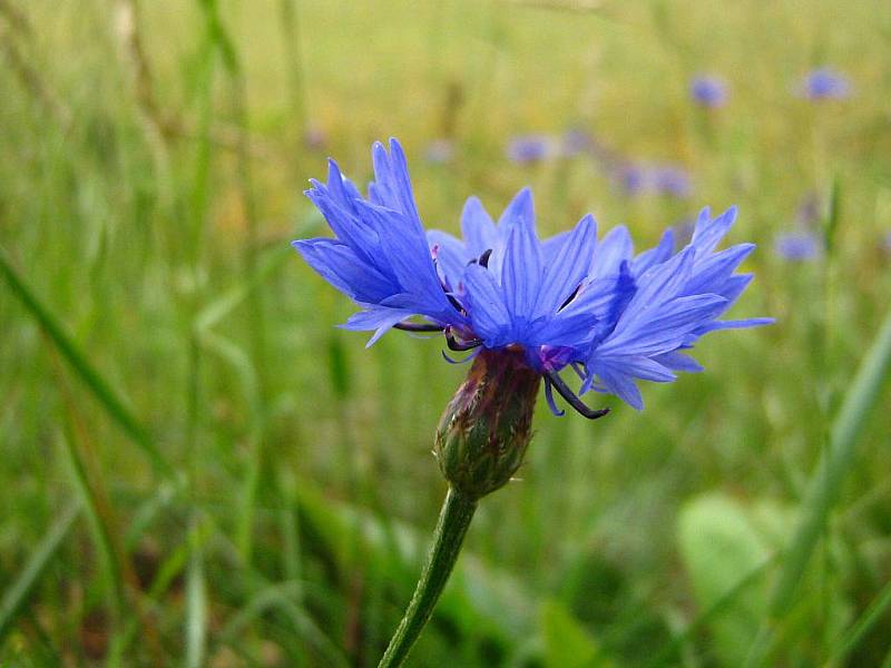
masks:
<svg viewBox="0 0 891 668"><path fill-rule="evenodd" d="M450 232L736 204L777 318L540 402L410 665L891 665L890 66L878 0L0 0L0 665L376 665L467 367L288 242L391 135Z"/></svg>

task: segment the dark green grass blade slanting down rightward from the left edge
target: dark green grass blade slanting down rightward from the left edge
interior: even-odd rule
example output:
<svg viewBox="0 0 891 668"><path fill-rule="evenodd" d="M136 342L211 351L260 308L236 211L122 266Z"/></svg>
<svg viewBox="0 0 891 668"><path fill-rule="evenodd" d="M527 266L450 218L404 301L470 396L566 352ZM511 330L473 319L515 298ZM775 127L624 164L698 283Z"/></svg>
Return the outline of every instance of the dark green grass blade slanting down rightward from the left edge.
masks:
<svg viewBox="0 0 891 668"><path fill-rule="evenodd" d="M146 429L126 407L124 401L99 372L96 371L96 367L81 352L77 343L66 333L59 320L50 313L22 281L2 248L0 248L0 274L2 274L12 294L38 322L40 328L65 357L66 362L71 365L94 396L102 404L111 420L145 452L156 472L173 479L173 468L161 456L160 451L155 446Z"/></svg>

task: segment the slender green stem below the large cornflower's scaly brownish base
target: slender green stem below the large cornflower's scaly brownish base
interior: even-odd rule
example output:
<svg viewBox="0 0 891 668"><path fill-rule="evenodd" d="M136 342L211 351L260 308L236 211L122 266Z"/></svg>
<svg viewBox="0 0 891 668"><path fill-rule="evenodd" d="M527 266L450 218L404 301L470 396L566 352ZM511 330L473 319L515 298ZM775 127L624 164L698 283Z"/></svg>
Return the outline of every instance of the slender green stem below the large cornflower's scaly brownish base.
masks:
<svg viewBox="0 0 891 668"><path fill-rule="evenodd" d="M390 646L378 664L378 668L394 668L401 666L409 656L414 641L421 635L424 625L433 612L433 607L439 600L439 595L446 587L449 576L452 572L458 554L461 552L461 543L473 519L477 510L477 501L449 488L442 510L439 513L439 522L433 531L433 546L427 556L427 563L418 580L414 596L405 610L405 616L393 633Z"/></svg>

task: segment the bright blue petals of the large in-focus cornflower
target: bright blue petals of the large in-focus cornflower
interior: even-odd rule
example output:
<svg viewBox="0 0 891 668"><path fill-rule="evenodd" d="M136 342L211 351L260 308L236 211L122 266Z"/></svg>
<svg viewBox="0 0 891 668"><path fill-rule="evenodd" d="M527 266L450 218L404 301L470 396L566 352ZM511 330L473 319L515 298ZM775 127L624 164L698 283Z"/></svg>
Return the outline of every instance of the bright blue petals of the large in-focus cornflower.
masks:
<svg viewBox="0 0 891 668"><path fill-rule="evenodd" d="M336 238L294 242L306 262L362 311L343 325L441 331L451 350L521 354L545 379L551 410L557 390L589 418L591 411L560 377L571 366L589 390L618 395L636 409L637 380L669 382L701 367L684 351L714 330L766 324L770 318L718 321L752 279L734 275L754 244L715 253L736 217L731 208L699 215L691 243L674 252L667 230L635 255L627 228L598 242L588 215L574 229L539 239L528 189L496 223L476 197L461 216L463 238L424 232L405 156L390 140L372 149L368 197L331 160L326 184L312 180L310 199ZM421 316L424 322L411 322Z"/></svg>

